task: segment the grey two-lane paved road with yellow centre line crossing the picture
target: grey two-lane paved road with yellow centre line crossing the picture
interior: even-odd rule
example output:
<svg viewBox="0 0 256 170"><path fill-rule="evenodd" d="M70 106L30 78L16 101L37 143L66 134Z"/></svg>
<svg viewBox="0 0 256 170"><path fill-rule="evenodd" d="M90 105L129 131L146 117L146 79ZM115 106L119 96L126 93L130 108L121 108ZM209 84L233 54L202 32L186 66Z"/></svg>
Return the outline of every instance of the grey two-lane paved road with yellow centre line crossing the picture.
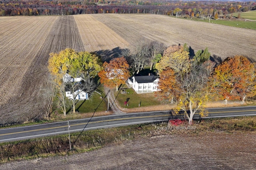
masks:
<svg viewBox="0 0 256 170"><path fill-rule="evenodd" d="M209 117L233 117L233 116L256 115L256 106L247 107L225 107L208 109ZM194 118L199 118L198 114ZM172 115L171 111L155 111L145 113L126 113L120 115L108 115L102 117L92 117L88 119L78 119L69 121L70 132L90 129L117 127L131 124L151 123L167 121L170 119L182 119L184 114ZM25 127L0 129L0 143L7 141L17 141L42 136L68 133L68 121L57 123L47 123Z"/></svg>

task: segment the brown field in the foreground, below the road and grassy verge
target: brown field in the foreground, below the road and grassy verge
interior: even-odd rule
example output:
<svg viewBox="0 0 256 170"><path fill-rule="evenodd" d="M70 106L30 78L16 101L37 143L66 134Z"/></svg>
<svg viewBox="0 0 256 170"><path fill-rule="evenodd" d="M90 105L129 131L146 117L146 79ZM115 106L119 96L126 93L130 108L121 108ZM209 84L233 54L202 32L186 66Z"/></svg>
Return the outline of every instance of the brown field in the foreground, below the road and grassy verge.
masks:
<svg viewBox="0 0 256 170"><path fill-rule="evenodd" d="M255 170L256 135L208 132L140 138L75 154L10 162L4 170L35 169L168 169Z"/></svg>

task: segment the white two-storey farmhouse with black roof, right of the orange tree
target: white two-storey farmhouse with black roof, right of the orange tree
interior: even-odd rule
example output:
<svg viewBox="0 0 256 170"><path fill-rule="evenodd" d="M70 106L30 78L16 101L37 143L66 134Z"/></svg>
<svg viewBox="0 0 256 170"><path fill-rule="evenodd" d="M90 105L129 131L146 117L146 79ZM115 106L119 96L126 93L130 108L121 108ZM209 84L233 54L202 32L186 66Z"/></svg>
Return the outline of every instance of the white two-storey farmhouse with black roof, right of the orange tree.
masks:
<svg viewBox="0 0 256 170"><path fill-rule="evenodd" d="M137 74L128 78L128 84L132 87L136 93L151 93L159 91L158 89L159 78L150 74L148 76L142 76Z"/></svg>

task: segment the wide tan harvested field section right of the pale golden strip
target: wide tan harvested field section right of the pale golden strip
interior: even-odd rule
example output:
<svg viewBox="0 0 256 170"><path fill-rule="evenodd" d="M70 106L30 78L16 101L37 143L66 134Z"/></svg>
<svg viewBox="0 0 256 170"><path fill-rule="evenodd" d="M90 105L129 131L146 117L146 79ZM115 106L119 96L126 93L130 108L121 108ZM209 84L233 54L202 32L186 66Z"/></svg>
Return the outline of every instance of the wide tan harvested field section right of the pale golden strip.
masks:
<svg viewBox="0 0 256 170"><path fill-rule="evenodd" d="M146 38L160 41L167 46L187 43L195 52L208 47L216 61L234 55L244 55L256 60L255 30L162 15L97 14L93 16L131 45L136 39Z"/></svg>

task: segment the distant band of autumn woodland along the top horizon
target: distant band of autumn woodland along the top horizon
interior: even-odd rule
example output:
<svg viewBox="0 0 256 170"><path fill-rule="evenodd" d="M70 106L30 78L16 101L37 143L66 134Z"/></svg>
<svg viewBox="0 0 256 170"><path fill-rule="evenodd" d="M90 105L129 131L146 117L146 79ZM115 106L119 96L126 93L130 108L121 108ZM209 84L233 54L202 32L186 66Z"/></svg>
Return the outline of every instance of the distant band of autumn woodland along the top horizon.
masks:
<svg viewBox="0 0 256 170"><path fill-rule="evenodd" d="M256 10L255 2L222 1L0 1L0 16L38 16L75 14L161 14L172 16L225 16L234 12Z"/></svg>

